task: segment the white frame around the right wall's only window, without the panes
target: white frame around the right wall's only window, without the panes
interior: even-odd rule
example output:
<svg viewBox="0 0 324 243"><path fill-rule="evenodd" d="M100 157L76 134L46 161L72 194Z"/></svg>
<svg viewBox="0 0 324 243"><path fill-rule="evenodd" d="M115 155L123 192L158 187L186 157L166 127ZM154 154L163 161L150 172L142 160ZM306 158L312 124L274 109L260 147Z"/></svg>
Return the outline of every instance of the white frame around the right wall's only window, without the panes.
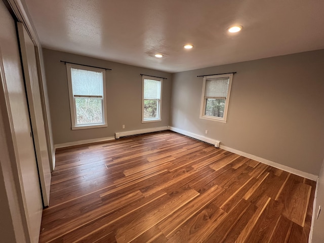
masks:
<svg viewBox="0 0 324 243"><path fill-rule="evenodd" d="M224 116L223 117L216 117L216 116L212 116L212 115L205 115L206 102L207 102L207 98L205 97L206 80L215 79L215 78L224 78L224 77L229 78L227 96L225 97ZM228 113L229 98L230 98L231 87L232 87L232 79L233 79L233 73L204 76L204 79L203 79L203 91L201 92L201 102L200 102L200 114L199 114L200 119L219 121L221 123L226 123L227 122L227 113Z"/></svg>

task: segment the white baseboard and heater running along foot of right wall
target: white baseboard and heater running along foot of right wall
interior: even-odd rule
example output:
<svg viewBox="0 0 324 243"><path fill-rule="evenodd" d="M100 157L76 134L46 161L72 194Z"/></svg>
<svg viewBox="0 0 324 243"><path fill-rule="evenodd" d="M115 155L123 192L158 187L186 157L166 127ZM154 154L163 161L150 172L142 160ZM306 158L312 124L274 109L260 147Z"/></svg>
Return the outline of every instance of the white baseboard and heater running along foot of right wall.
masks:
<svg viewBox="0 0 324 243"><path fill-rule="evenodd" d="M183 134L183 135L186 135L188 137L192 137L192 138L195 138L195 139L207 142L207 143L211 143L211 144L215 144L216 142L219 142L217 140L207 138L207 137L204 137L204 136L201 136L201 135L198 135L198 134L190 133L190 132L187 132L185 130L174 128L174 127L170 127L170 130L174 131L174 132L177 132L177 133L180 133L180 134ZM284 165L275 163L275 162L273 162L271 160L261 158L261 157L258 157L256 155L246 153L246 152L234 149L234 148L230 148L230 147L227 147L227 146L224 146L224 145L220 145L219 148L230 151L230 152L233 152L233 153L236 153L236 154L239 154L239 155L242 155L242 156L245 156L247 158L252 158L252 159L257 160L257 161L259 161L259 162L261 162L263 164L278 168L280 170L287 171L289 173L292 173L292 174L295 174L295 175L298 175L298 176L302 176L302 177L310 179L312 181L317 181L317 178L318 178L318 176L316 176L316 175L309 174L307 172L303 172L303 171L300 171L300 170L297 170L297 169L294 169L294 168L291 168L291 167L288 167L288 166L284 166Z"/></svg>

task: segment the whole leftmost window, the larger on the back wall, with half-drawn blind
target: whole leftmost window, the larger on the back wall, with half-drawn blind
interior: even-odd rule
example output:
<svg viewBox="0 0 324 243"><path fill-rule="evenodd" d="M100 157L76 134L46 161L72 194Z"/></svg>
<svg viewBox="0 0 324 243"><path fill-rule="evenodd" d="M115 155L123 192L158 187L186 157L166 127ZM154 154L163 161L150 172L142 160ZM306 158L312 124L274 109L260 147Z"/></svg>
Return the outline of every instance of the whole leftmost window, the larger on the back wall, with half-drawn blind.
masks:
<svg viewBox="0 0 324 243"><path fill-rule="evenodd" d="M72 130L107 127L105 70L66 64Z"/></svg>

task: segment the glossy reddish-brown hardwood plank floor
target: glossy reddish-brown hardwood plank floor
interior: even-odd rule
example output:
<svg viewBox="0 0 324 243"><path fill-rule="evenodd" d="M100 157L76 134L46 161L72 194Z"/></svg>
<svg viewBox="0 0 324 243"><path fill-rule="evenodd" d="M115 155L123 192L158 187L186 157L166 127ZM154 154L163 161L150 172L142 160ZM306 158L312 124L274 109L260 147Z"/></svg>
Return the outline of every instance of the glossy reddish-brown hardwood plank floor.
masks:
<svg viewBox="0 0 324 243"><path fill-rule="evenodd" d="M308 242L315 186L170 131L57 149L39 242Z"/></svg>

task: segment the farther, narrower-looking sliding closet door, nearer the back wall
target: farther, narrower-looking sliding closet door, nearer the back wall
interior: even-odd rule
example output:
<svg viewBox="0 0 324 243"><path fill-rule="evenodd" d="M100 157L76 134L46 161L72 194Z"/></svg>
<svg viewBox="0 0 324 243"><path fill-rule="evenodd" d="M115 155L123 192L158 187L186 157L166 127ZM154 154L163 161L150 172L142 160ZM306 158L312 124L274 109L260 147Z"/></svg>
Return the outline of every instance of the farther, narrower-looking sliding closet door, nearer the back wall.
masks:
<svg viewBox="0 0 324 243"><path fill-rule="evenodd" d="M33 131L39 179L41 180L44 206L49 206L51 168L42 110L41 93L39 92L35 47L24 25L17 23L22 63L24 68L31 127Z"/></svg>

